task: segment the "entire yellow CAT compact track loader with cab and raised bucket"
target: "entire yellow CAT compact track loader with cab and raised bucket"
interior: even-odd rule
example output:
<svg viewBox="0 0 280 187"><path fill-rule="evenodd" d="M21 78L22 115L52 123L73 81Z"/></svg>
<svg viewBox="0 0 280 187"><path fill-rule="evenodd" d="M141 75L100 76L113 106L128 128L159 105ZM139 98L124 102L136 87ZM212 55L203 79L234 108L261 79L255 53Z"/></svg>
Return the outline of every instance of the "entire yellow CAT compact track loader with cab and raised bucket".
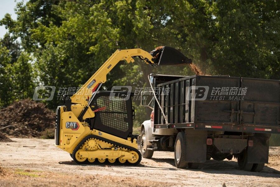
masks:
<svg viewBox="0 0 280 187"><path fill-rule="evenodd" d="M116 50L77 93L64 95L65 105L56 111L55 144L70 153L76 163L137 165L141 161L137 136L132 134L134 108L130 93L98 91L119 61L130 63L135 57L152 66L191 63L191 59L167 46L150 53L142 49Z"/></svg>

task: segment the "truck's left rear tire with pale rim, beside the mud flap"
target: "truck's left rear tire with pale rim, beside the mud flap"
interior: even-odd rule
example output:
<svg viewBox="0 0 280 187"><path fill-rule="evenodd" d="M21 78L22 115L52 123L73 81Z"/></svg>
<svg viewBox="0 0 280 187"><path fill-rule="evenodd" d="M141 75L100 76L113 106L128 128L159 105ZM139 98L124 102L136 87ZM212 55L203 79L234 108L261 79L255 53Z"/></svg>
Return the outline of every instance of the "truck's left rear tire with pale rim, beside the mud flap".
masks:
<svg viewBox="0 0 280 187"><path fill-rule="evenodd" d="M174 146L174 158L177 168L186 168L188 162L185 161L185 133L179 132L177 134Z"/></svg>

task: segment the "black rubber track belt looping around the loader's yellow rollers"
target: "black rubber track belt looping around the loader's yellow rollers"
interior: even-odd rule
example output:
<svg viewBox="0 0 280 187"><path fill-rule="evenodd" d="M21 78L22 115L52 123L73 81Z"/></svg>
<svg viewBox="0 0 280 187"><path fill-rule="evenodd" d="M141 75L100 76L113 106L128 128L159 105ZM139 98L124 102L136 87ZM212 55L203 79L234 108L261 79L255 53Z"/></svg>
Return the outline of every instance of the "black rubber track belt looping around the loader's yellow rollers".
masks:
<svg viewBox="0 0 280 187"><path fill-rule="evenodd" d="M130 163L128 161L126 161L125 163L120 163L118 161L118 159L116 159L116 161L114 163L110 163L107 159L105 162L101 163L98 161L98 159L96 159L96 161L94 162L89 162L87 159L83 162L79 162L77 161L77 159L75 158L75 155L76 155L76 152L79 150L79 148L86 142L86 140L88 140L89 138L96 138L96 139L99 139L101 141L105 141L107 143L110 143L110 144L113 144L114 146L117 146L117 147L120 147L120 148L125 148L125 149L128 149L128 150L131 150L131 151L136 151L139 155L139 159L137 162L135 163ZM121 143L118 143L116 141L111 141L109 139L106 139L106 138L103 138L103 137L100 137L100 136L96 136L96 135L88 135L86 137L84 137L82 139L82 141L80 141L80 143L75 147L75 149L73 150L72 152L72 159L77 163L77 164L111 164L111 165L138 165L140 162L141 162L141 159L142 159L142 155L140 153L140 151L138 151L138 149L135 149L134 147L130 147L130 146L127 146L127 145L124 145L124 144L121 144Z"/></svg>

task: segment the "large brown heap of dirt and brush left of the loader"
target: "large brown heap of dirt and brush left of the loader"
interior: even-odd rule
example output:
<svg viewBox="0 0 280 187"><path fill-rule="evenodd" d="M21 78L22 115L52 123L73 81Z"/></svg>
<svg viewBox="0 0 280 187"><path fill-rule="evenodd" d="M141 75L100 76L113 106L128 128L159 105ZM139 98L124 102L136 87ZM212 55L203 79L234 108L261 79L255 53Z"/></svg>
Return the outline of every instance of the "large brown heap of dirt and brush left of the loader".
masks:
<svg viewBox="0 0 280 187"><path fill-rule="evenodd" d="M40 137L46 129L52 131L54 124L55 113L30 99L16 101L0 113L0 131L14 137Z"/></svg>

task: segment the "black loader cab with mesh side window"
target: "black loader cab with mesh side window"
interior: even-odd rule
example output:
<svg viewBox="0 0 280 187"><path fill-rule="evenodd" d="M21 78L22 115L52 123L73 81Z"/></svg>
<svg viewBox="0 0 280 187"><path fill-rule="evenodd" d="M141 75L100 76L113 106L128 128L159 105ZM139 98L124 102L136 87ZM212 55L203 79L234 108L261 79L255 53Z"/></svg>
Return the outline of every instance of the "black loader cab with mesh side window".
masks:
<svg viewBox="0 0 280 187"><path fill-rule="evenodd" d="M132 137L134 107L128 92L98 91L90 104L96 111L90 119L91 129L100 130L117 137Z"/></svg>

